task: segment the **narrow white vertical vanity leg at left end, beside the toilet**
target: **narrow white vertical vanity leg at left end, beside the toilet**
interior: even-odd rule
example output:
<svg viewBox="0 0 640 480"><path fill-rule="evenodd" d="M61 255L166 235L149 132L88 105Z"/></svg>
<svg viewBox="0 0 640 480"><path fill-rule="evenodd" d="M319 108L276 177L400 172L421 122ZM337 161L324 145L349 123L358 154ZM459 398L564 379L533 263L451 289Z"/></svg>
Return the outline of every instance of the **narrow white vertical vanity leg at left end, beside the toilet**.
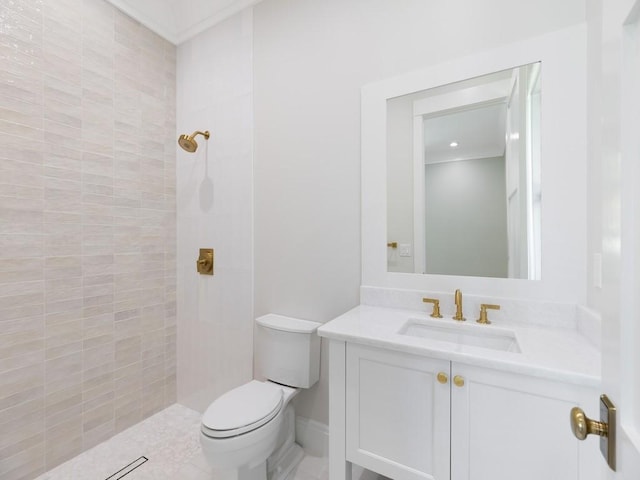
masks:
<svg viewBox="0 0 640 480"><path fill-rule="evenodd" d="M329 478L351 480L351 462L346 459L346 369L345 342L329 343Z"/></svg>

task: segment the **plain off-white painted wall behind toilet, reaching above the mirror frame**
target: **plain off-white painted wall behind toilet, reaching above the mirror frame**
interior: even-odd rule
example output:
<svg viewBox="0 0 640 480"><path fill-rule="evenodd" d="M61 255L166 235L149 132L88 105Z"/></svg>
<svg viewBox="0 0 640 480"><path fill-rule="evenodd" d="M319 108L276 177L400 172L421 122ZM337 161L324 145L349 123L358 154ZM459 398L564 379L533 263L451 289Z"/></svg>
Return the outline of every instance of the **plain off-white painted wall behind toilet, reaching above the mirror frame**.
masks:
<svg viewBox="0 0 640 480"><path fill-rule="evenodd" d="M359 302L363 84L584 20L583 0L258 4L256 315L325 322ZM320 384L297 413L327 423L323 354Z"/></svg>

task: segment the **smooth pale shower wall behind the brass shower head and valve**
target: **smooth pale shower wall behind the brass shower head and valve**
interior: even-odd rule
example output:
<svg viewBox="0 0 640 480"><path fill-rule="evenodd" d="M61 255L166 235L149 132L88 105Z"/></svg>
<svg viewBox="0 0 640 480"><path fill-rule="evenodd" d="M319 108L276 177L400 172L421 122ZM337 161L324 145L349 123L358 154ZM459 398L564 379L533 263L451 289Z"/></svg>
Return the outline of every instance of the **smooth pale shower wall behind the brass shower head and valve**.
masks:
<svg viewBox="0 0 640 480"><path fill-rule="evenodd" d="M252 38L247 9L178 47L178 130L211 132L177 158L178 400L199 411L252 378Z"/></svg>

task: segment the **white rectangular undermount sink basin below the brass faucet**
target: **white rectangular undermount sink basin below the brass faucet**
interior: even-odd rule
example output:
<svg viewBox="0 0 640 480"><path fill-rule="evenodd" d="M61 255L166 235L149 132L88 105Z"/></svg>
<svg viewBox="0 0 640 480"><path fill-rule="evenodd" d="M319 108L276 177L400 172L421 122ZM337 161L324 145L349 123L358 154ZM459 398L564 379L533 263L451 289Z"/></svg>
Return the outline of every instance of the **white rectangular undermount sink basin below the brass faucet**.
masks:
<svg viewBox="0 0 640 480"><path fill-rule="evenodd" d="M451 322L455 322L451 320ZM447 323L447 320L410 318L398 330L400 335L429 338L457 345L520 353L518 339L511 330L491 325Z"/></svg>

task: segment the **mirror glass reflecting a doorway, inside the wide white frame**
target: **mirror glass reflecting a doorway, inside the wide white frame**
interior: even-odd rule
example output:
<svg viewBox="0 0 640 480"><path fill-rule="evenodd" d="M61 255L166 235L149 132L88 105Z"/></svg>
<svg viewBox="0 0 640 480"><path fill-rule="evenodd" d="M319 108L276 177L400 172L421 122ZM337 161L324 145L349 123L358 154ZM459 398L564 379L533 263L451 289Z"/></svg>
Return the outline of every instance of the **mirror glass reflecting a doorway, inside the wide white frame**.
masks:
<svg viewBox="0 0 640 480"><path fill-rule="evenodd" d="M540 63L387 100L387 270L540 279Z"/></svg>

